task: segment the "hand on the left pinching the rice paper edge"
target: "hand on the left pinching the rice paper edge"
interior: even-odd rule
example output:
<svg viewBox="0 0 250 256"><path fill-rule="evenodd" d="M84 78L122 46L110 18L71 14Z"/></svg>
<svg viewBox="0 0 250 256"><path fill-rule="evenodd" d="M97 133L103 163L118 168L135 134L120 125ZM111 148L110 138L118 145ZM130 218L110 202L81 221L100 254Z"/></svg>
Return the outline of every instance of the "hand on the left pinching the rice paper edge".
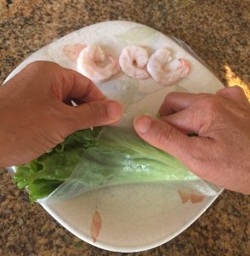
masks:
<svg viewBox="0 0 250 256"><path fill-rule="evenodd" d="M74 131L109 125L121 116L122 106L80 73L33 62L0 87L0 166L24 164Z"/></svg>

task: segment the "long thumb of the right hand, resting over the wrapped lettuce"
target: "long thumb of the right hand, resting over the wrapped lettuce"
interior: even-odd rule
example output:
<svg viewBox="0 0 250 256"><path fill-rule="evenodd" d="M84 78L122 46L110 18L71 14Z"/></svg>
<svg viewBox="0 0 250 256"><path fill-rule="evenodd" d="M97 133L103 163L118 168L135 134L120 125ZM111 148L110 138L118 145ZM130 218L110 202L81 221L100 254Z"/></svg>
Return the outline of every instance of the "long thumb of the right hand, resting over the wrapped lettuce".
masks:
<svg viewBox="0 0 250 256"><path fill-rule="evenodd" d="M196 173L197 166L200 166L200 160L211 143L206 137L188 137L167 122L149 116L134 119L134 129L145 142L172 154Z"/></svg>

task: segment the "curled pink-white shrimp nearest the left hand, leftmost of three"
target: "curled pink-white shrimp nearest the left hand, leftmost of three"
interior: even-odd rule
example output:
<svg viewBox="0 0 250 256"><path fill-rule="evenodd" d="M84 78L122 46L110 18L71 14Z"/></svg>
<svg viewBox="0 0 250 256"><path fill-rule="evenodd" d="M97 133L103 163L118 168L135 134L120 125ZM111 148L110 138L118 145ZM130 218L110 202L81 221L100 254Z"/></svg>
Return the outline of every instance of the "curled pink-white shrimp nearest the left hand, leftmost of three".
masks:
<svg viewBox="0 0 250 256"><path fill-rule="evenodd" d="M105 61L105 53L97 45L90 45L82 49L77 58L77 69L80 73L92 79L95 82L104 82L120 70L118 60L111 55L108 56L111 61L105 67L97 66L98 62Z"/></svg>

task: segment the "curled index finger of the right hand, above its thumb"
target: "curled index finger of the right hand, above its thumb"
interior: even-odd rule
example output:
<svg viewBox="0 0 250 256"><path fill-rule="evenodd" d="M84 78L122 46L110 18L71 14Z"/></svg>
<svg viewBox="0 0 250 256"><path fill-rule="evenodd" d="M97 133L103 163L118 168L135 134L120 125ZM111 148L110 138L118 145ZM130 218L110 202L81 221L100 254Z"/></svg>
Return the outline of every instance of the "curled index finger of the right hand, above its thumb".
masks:
<svg viewBox="0 0 250 256"><path fill-rule="evenodd" d="M161 116L166 116L171 113L179 112L185 108L190 107L191 104L198 99L207 96L208 94L192 94L183 92L171 92L169 93L162 103L159 113Z"/></svg>

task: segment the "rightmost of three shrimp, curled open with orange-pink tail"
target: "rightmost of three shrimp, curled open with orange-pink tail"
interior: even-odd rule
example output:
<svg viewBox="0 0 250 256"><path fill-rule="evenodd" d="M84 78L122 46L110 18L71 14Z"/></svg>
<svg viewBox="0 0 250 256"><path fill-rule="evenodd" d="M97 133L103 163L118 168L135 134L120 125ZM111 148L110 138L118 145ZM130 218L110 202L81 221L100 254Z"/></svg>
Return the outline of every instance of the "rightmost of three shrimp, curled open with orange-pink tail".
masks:
<svg viewBox="0 0 250 256"><path fill-rule="evenodd" d="M190 62L179 59L180 66L169 70L166 65L172 60L169 49L163 47L157 49L150 57L147 65L148 72L157 83L168 86L177 83L180 79L185 78L190 72Z"/></svg>

